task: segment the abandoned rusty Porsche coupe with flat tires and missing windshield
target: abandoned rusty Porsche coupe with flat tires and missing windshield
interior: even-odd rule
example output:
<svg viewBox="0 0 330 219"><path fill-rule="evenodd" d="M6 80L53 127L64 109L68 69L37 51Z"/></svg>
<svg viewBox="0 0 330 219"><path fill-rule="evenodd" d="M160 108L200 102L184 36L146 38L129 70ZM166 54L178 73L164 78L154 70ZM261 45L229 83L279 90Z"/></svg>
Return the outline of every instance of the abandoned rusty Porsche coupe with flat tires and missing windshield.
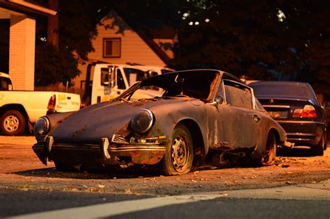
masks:
<svg viewBox="0 0 330 219"><path fill-rule="evenodd" d="M109 84L116 86L116 81ZM136 98L138 90L150 88L159 95ZM34 133L40 161L54 161L60 171L159 163L165 175L185 174L209 156L219 163L235 156L269 164L276 146L286 140L253 89L219 70L173 72L136 82L109 102L40 117Z"/></svg>

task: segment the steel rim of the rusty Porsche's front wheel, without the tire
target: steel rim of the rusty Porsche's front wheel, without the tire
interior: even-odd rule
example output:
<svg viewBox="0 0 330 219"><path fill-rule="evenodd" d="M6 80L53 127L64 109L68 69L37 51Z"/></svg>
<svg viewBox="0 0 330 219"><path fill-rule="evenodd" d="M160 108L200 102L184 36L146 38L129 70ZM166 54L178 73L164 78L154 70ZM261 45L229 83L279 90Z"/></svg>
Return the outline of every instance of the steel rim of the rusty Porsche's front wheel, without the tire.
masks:
<svg viewBox="0 0 330 219"><path fill-rule="evenodd" d="M171 161L177 172L184 172L189 162L189 145L182 134L175 136L171 147Z"/></svg>

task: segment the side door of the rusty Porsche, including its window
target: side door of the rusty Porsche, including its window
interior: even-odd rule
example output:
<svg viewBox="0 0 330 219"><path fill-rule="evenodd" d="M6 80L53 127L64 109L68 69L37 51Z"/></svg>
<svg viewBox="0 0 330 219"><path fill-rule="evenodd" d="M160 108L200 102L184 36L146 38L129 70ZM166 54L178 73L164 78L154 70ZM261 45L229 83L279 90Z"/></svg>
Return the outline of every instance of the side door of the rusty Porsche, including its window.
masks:
<svg viewBox="0 0 330 219"><path fill-rule="evenodd" d="M223 79L222 83L223 140L235 148L256 146L261 118L254 109L252 89L237 81Z"/></svg>

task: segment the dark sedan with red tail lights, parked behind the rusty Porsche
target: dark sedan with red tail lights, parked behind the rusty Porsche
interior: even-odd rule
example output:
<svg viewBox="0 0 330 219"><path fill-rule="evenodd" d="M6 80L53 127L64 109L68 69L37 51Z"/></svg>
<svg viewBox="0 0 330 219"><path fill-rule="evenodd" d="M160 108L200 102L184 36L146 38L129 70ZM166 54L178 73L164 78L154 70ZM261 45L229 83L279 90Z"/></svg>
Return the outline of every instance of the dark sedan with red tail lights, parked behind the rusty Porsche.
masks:
<svg viewBox="0 0 330 219"><path fill-rule="evenodd" d="M288 141L310 146L315 155L324 154L326 115L308 83L258 81L250 86L269 115L288 133Z"/></svg>

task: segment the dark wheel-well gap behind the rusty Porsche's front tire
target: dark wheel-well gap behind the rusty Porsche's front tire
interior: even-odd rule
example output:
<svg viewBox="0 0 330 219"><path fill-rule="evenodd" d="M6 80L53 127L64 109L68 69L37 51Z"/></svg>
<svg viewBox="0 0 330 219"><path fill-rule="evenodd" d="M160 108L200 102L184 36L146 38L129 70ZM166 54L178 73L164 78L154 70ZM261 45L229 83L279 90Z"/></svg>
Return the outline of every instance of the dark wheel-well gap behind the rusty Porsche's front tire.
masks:
<svg viewBox="0 0 330 219"><path fill-rule="evenodd" d="M195 158L201 159L201 157L205 155L205 145L200 127L194 120L181 120L178 124L183 124L187 127L187 129L189 129L194 143Z"/></svg>

